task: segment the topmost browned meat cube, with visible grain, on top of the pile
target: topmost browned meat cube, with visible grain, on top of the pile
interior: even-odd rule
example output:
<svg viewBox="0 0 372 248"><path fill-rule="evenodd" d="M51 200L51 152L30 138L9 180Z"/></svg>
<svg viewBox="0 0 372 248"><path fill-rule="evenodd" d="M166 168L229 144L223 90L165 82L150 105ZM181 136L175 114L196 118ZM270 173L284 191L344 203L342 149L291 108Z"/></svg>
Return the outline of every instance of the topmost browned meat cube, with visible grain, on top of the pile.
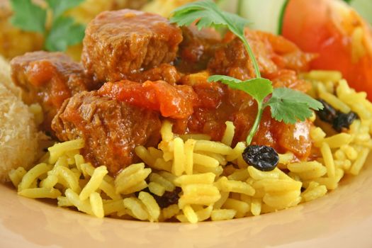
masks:
<svg viewBox="0 0 372 248"><path fill-rule="evenodd" d="M181 40L181 30L162 16L129 9L106 11L86 28L81 60L96 81L120 81L172 62Z"/></svg>

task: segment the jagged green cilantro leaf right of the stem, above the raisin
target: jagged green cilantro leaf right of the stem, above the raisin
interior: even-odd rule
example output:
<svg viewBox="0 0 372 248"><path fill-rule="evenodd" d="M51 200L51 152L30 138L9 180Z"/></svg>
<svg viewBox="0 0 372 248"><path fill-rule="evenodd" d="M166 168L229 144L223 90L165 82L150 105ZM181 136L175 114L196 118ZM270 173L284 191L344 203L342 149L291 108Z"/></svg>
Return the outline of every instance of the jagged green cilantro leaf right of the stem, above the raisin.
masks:
<svg viewBox="0 0 372 248"><path fill-rule="evenodd" d="M322 103L300 91L288 88L274 89L273 95L265 106L270 106L271 117L284 123L294 124L312 115L310 108L320 110Z"/></svg>

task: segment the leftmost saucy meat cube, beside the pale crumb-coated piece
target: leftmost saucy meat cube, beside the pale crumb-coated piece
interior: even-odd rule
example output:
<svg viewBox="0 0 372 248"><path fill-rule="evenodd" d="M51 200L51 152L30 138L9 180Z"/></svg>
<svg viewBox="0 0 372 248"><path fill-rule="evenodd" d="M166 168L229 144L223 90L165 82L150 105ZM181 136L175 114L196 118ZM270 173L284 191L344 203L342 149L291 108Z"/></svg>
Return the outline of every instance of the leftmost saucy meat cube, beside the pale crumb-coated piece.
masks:
<svg viewBox="0 0 372 248"><path fill-rule="evenodd" d="M28 52L11 60L11 77L23 89L23 101L40 103L44 112L43 130L50 124L64 100L94 88L81 64L62 52Z"/></svg>

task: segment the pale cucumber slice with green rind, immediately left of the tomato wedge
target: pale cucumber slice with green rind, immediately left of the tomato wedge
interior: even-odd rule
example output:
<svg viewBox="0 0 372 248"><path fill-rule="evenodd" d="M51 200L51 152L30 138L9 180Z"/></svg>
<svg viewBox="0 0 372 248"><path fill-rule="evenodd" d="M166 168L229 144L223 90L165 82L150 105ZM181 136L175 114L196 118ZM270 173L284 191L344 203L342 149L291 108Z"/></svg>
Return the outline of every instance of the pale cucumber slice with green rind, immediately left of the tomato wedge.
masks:
<svg viewBox="0 0 372 248"><path fill-rule="evenodd" d="M288 0L242 0L240 16L252 21L250 28L280 34Z"/></svg>

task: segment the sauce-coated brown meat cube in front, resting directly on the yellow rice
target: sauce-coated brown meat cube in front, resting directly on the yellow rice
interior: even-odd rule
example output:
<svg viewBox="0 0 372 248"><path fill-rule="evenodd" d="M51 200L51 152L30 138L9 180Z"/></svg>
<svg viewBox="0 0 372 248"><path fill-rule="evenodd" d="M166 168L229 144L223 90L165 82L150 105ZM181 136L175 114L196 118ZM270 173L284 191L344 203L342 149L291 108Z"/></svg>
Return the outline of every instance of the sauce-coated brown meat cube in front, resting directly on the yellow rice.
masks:
<svg viewBox="0 0 372 248"><path fill-rule="evenodd" d="M160 138L159 113L100 96L81 92L65 101L52 122L62 140L84 139L82 154L111 174L132 164L135 147L154 146Z"/></svg>

